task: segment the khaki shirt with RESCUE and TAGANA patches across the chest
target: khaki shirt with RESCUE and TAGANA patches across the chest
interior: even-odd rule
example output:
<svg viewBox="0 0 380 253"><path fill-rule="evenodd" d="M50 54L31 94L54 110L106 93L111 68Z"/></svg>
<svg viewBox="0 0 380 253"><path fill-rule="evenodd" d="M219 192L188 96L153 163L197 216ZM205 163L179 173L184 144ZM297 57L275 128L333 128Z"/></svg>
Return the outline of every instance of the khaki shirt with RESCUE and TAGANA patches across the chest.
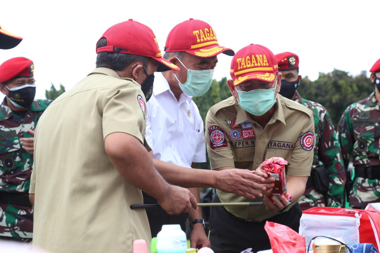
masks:
<svg viewBox="0 0 380 253"><path fill-rule="evenodd" d="M314 120L305 106L277 94L275 113L263 129L242 109L232 96L211 107L206 117L206 145L211 169L235 167L255 170L267 158L288 161L291 176L310 176L313 162ZM221 202L258 202L217 190ZM292 200L292 205L296 201ZM263 221L278 212L264 205L225 207L236 217Z"/></svg>

